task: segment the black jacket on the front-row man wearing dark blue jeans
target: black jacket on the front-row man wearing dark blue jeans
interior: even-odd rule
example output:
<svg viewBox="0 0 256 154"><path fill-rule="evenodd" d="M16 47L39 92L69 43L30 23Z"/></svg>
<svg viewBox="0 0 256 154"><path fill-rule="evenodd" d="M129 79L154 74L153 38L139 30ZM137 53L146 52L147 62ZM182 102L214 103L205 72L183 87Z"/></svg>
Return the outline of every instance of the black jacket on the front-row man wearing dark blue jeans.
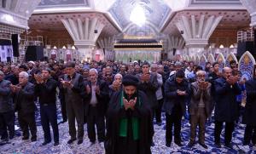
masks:
<svg viewBox="0 0 256 154"><path fill-rule="evenodd" d="M35 94L39 98L40 104L55 104L56 102L57 82L53 78L49 78L46 83L35 86Z"/></svg>

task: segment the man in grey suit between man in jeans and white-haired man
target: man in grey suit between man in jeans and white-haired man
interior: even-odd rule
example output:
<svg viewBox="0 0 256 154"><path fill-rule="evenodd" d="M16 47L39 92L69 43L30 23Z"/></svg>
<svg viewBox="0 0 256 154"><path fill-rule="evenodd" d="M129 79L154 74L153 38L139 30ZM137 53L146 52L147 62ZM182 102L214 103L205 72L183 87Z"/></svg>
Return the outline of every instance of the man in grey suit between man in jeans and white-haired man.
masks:
<svg viewBox="0 0 256 154"><path fill-rule="evenodd" d="M61 79L61 83L64 88L67 121L69 134L71 136L71 139L67 141L67 144L71 144L76 140L76 120L78 123L78 145L80 145L83 143L84 138L84 77L75 72L75 64L73 62L67 62L66 71L67 74L65 74L63 79Z"/></svg>

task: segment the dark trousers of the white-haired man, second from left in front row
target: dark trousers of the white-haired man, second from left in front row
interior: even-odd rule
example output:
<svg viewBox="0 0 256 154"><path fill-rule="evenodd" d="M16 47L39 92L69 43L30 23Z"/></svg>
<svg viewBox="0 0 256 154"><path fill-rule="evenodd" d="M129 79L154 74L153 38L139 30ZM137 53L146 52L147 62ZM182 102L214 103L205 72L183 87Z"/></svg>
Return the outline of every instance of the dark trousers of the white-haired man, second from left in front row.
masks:
<svg viewBox="0 0 256 154"><path fill-rule="evenodd" d="M26 138L29 137L29 132L28 132L28 127L29 127L30 132L32 134L32 138L37 138L35 112L24 114L21 111L18 111L18 121L20 123L20 128L23 132L24 137Z"/></svg>

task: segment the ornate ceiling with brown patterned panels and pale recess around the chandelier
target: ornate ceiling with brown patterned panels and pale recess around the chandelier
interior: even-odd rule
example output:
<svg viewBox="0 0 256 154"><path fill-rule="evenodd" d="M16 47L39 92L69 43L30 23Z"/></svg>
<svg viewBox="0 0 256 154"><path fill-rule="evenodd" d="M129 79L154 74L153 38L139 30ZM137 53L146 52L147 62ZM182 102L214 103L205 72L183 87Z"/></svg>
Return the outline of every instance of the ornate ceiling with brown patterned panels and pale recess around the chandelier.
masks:
<svg viewBox="0 0 256 154"><path fill-rule="evenodd" d="M145 11L144 27L130 21L137 4ZM201 14L224 16L217 29L239 30L250 23L250 15L240 0L41 0L28 25L31 31L66 31L61 19L89 17L99 18L105 25L101 37L136 31L180 35L175 23L182 15L192 14L196 19Z"/></svg>

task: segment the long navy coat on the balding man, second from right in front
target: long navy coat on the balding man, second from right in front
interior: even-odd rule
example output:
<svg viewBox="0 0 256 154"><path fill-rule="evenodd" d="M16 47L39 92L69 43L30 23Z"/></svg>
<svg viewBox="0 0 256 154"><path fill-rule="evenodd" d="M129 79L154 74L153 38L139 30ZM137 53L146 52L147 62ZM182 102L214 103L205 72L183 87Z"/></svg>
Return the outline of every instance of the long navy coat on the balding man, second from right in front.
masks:
<svg viewBox="0 0 256 154"><path fill-rule="evenodd" d="M238 117L236 95L241 94L238 83L231 86L224 77L221 77L215 80L214 86L216 90L215 120L218 122L234 122Z"/></svg>

